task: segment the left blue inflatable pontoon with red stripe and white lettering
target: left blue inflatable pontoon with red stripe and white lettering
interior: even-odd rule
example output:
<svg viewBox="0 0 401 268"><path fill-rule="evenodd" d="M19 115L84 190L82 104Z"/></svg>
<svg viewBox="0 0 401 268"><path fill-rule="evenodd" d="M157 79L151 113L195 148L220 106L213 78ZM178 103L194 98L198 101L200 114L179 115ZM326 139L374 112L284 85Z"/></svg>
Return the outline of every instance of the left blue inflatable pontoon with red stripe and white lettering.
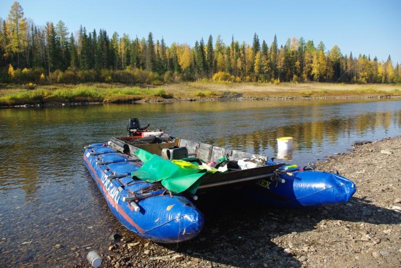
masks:
<svg viewBox="0 0 401 268"><path fill-rule="evenodd" d="M156 242L176 243L198 235L204 226L202 212L183 196L133 180L130 174L140 163L132 160L104 143L91 144L84 153L84 163L114 216L129 230Z"/></svg>

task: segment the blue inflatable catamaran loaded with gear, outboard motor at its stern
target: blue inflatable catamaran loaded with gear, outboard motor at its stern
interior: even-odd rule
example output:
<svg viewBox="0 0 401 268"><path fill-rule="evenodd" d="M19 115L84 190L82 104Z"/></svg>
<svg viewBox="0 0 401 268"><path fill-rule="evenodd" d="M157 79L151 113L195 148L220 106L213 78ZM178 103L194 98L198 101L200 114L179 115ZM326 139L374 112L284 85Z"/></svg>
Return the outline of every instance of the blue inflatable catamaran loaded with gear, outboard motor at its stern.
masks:
<svg viewBox="0 0 401 268"><path fill-rule="evenodd" d="M240 190L282 208L346 203L356 191L336 173L172 138L140 129L136 118L127 129L128 137L86 146L84 163L115 217L156 242L185 241L202 231L205 219L196 200L212 191Z"/></svg>

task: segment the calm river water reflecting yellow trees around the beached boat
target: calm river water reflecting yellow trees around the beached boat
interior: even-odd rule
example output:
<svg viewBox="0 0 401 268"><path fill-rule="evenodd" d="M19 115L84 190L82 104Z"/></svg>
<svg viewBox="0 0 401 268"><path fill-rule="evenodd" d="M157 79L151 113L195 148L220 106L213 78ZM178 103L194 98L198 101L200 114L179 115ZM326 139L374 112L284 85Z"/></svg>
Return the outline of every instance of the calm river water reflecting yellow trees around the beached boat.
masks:
<svg viewBox="0 0 401 268"><path fill-rule="evenodd" d="M1 266L70 266L88 250L104 251L111 233L126 232L85 169L82 153L89 143L125 136L129 117L175 137L269 157L277 157L277 137L291 136L294 150L289 162L306 164L346 152L354 141L399 135L401 101L216 101L0 109Z"/></svg>

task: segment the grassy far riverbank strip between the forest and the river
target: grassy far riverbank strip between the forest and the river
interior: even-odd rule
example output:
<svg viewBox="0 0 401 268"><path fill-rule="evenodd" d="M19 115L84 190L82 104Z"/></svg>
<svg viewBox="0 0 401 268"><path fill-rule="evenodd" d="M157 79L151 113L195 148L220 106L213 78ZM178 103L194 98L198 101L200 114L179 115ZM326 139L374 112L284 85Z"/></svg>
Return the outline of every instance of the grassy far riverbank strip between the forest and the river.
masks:
<svg viewBox="0 0 401 268"><path fill-rule="evenodd" d="M335 99L401 97L401 85L334 83L187 82L154 86L117 83L2 85L0 106L129 102L213 101L224 99Z"/></svg>

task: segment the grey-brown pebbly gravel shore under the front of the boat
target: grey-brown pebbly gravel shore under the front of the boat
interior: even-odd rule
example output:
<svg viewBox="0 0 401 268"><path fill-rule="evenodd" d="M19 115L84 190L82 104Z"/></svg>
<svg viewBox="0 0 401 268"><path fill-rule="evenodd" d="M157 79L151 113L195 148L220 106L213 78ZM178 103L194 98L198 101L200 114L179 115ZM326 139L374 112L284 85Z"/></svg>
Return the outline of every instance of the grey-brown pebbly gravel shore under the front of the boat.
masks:
<svg viewBox="0 0 401 268"><path fill-rule="evenodd" d="M355 182L357 192L347 204L305 210L243 200L205 205L199 237L169 245L121 226L99 252L102 267L399 267L400 148L401 137L390 138L318 163L318 169L336 169ZM88 250L71 250L75 267L90 267Z"/></svg>

